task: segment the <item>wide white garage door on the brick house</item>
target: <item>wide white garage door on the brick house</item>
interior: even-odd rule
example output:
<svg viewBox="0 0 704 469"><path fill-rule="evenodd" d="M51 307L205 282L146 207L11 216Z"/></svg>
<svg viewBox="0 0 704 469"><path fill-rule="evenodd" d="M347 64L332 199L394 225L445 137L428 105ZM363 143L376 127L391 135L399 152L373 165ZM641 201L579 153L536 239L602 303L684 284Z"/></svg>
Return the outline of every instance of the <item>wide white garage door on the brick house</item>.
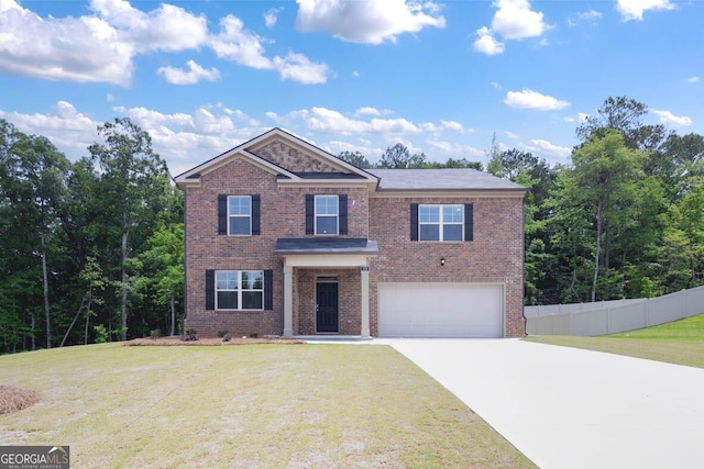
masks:
<svg viewBox="0 0 704 469"><path fill-rule="evenodd" d="M499 284L380 283L381 337L503 337Z"/></svg>

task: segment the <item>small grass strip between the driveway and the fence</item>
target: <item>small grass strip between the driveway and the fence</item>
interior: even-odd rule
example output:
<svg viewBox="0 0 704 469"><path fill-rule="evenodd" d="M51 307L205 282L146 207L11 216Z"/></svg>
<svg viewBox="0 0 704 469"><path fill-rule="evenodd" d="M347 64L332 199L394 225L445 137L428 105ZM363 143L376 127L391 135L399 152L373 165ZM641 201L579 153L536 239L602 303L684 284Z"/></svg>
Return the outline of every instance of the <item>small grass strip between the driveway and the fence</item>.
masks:
<svg viewBox="0 0 704 469"><path fill-rule="evenodd" d="M704 314L601 337L544 335L526 339L704 368Z"/></svg>

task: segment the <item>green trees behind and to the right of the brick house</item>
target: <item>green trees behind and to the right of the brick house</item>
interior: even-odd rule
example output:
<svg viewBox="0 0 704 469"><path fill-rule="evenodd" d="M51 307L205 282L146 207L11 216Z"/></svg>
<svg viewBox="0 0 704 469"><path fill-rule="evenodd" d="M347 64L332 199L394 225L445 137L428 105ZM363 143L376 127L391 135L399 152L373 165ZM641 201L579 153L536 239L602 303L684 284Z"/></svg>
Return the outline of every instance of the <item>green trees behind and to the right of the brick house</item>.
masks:
<svg viewBox="0 0 704 469"><path fill-rule="evenodd" d="M644 123L648 107L608 98L576 129L570 163L487 149L486 171L530 188L525 209L525 303L652 298L704 283L704 137ZM474 168L429 163L402 144L363 168Z"/></svg>

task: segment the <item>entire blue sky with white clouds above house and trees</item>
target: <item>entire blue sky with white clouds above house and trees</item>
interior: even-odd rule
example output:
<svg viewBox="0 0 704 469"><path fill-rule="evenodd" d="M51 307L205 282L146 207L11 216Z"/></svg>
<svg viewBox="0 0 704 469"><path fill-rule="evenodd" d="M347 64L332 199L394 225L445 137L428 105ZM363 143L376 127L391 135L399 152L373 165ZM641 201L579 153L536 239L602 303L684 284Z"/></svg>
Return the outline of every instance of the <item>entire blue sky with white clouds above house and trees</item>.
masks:
<svg viewBox="0 0 704 469"><path fill-rule="evenodd" d="M704 2L0 0L0 118L70 159L129 116L173 175L274 126L378 160L569 163L609 96L704 134Z"/></svg>

